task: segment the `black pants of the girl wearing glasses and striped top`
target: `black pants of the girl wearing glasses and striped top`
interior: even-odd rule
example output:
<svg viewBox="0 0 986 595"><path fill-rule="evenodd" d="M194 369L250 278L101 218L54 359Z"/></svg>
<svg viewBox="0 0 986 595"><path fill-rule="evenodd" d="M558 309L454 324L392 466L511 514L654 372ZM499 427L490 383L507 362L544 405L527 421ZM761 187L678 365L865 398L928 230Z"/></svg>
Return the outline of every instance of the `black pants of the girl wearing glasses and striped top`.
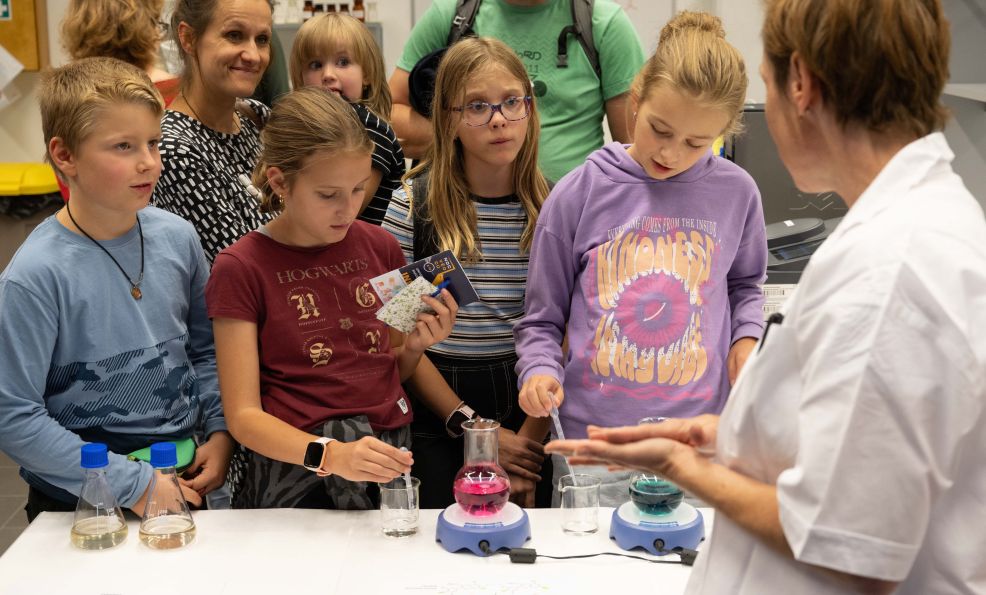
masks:
<svg viewBox="0 0 986 595"><path fill-rule="evenodd" d="M516 356L496 359L465 360L428 353L428 359L445 381L467 405L487 419L495 419L508 430L516 432L525 415L518 401ZM452 483L462 467L464 441L451 438L440 419L412 394L414 423L411 451L414 466L411 475L421 480L421 508L445 508L455 502ZM551 506L551 459L546 457L541 467L542 481L535 491L535 506Z"/></svg>

